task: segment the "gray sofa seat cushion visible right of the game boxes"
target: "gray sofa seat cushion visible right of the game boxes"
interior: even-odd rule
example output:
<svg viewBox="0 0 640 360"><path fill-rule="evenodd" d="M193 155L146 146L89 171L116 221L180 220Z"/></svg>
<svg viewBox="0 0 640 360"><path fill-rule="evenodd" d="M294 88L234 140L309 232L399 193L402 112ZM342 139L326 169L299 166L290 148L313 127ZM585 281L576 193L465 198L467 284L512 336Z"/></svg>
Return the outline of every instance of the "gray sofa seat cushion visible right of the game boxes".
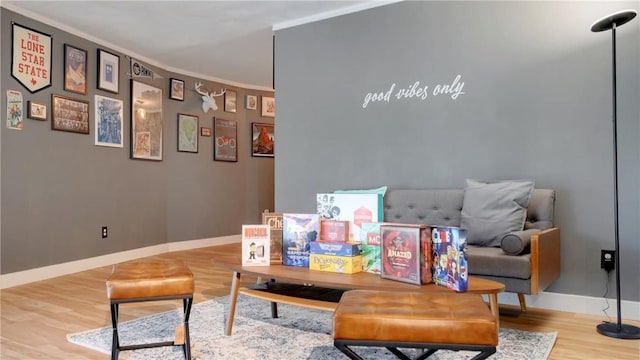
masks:
<svg viewBox="0 0 640 360"><path fill-rule="evenodd" d="M511 256L499 247L467 247L469 275L486 275L517 279L531 278L531 254Z"/></svg>

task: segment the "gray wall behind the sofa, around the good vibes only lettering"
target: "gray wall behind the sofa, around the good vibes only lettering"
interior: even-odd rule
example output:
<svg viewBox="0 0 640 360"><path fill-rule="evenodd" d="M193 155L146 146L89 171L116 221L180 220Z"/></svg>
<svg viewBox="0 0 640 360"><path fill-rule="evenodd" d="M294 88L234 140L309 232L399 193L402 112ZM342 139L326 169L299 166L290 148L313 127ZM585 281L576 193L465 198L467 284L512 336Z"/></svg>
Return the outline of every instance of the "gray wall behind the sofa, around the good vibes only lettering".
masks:
<svg viewBox="0 0 640 360"><path fill-rule="evenodd" d="M611 33L627 2L401 2L276 31L277 211L344 188L462 188L466 178L557 191L562 276L600 297L613 249ZM640 19L617 31L622 298L640 300ZM433 95L457 75L464 94ZM428 96L369 103L419 81ZM615 286L611 276L609 296Z"/></svg>

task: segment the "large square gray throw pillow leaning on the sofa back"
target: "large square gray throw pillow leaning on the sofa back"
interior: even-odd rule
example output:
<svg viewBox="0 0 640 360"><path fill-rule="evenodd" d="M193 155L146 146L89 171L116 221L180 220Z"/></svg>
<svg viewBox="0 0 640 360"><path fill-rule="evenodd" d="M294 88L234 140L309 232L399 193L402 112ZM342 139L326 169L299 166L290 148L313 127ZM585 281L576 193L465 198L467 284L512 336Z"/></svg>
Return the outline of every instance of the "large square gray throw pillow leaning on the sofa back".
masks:
<svg viewBox="0 0 640 360"><path fill-rule="evenodd" d="M533 181L483 182L467 179L460 227L471 245L500 246L505 234L520 231L527 217Z"/></svg>

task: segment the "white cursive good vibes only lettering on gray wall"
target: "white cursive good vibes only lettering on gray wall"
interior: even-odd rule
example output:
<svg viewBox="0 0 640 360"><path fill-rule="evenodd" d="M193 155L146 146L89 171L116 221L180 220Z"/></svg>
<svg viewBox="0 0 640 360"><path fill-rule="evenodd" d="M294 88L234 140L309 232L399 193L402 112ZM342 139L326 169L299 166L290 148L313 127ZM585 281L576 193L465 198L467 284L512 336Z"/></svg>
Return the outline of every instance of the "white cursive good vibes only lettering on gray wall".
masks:
<svg viewBox="0 0 640 360"><path fill-rule="evenodd" d="M429 85L421 85L420 81L414 82L406 88L398 88L396 83L391 84L389 90L380 92L369 92L364 97L362 108L374 102L389 103L392 100L416 99L426 100L429 96L448 95L452 100L456 100L460 95L464 94L464 81L462 75L457 75L450 84L437 84L432 89Z"/></svg>

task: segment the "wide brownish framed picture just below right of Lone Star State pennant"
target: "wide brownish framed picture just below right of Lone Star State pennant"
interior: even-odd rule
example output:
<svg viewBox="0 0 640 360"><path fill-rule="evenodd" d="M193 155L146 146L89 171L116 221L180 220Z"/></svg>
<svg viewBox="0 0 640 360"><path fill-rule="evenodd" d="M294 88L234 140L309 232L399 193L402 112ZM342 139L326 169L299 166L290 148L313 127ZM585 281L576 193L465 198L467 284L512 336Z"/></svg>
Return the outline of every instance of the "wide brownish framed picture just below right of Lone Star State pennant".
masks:
<svg viewBox="0 0 640 360"><path fill-rule="evenodd" d="M89 133L89 102L51 94L51 129Z"/></svg>

